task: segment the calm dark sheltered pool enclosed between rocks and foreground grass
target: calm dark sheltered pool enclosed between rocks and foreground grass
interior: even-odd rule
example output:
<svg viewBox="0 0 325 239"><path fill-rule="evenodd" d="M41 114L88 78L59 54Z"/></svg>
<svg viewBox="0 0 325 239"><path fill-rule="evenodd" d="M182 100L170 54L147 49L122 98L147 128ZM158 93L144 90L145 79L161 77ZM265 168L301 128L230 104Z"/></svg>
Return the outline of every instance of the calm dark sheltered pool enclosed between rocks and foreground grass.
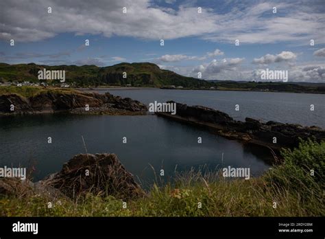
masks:
<svg viewBox="0 0 325 239"><path fill-rule="evenodd" d="M243 146L207 131L171 122L154 115L28 115L0 117L0 166L36 168L34 179L57 172L73 155L84 153L82 135L90 153L114 152L125 168L142 181L152 183L154 172L165 170L164 179L174 170L208 165L250 167L253 175L269 166L269 152ZM52 144L47 143L52 137ZM127 137L127 144L122 144ZM202 144L197 144L202 137Z"/></svg>

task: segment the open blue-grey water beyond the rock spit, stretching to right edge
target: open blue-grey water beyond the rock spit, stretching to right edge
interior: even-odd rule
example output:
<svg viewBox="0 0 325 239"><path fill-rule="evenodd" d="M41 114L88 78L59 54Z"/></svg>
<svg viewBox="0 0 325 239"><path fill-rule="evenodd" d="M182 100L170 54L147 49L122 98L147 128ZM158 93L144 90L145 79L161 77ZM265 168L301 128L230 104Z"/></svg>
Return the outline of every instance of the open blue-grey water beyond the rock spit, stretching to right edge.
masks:
<svg viewBox="0 0 325 239"><path fill-rule="evenodd" d="M97 91L104 93L105 91ZM228 113L236 120L253 117L267 122L320 126L325 128L325 95L249 91L187 91L167 89L110 90L145 104L174 100L189 105L208 106ZM239 104L239 111L235 105ZM315 110L311 111L311 104Z"/></svg>

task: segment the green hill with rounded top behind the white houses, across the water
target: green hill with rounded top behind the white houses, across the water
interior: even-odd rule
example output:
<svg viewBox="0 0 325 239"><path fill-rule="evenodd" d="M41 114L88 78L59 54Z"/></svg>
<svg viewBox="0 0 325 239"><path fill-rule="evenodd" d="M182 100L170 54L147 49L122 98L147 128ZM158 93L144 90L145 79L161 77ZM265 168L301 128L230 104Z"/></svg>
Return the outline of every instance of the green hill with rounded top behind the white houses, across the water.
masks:
<svg viewBox="0 0 325 239"><path fill-rule="evenodd" d="M8 65L0 63L0 80L2 82L38 82L38 71L65 70L66 82L75 82L77 86L117 85L130 84L134 87L161 87L163 85L175 85L176 87L204 87L211 83L180 76L173 71L160 69L149 62L120 63L110 67L97 67L95 65L59 65L47 66L34 63ZM127 77L123 78L123 72Z"/></svg>

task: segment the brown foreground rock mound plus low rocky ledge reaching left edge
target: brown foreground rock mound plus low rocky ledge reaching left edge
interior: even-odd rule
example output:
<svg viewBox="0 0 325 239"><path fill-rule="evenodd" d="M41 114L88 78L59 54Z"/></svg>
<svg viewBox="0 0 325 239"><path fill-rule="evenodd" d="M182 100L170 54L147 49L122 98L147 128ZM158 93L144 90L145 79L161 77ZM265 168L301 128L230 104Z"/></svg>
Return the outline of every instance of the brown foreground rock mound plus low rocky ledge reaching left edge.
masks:
<svg viewBox="0 0 325 239"><path fill-rule="evenodd" d="M125 200L145 195L115 154L75 155L64 163L60 172L36 183L28 179L0 178L0 196L42 194L55 201L57 198L74 200L87 193Z"/></svg>

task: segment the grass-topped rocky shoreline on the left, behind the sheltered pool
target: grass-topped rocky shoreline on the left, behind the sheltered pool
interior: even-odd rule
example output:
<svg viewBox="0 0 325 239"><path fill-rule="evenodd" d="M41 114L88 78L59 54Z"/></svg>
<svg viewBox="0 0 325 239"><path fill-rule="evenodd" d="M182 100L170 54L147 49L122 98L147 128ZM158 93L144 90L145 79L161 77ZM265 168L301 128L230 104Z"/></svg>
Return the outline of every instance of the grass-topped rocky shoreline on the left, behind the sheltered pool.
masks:
<svg viewBox="0 0 325 239"><path fill-rule="evenodd" d="M16 93L0 95L0 115L69 112L77 114L145 115L147 106L110 93L47 91L24 98Z"/></svg>

